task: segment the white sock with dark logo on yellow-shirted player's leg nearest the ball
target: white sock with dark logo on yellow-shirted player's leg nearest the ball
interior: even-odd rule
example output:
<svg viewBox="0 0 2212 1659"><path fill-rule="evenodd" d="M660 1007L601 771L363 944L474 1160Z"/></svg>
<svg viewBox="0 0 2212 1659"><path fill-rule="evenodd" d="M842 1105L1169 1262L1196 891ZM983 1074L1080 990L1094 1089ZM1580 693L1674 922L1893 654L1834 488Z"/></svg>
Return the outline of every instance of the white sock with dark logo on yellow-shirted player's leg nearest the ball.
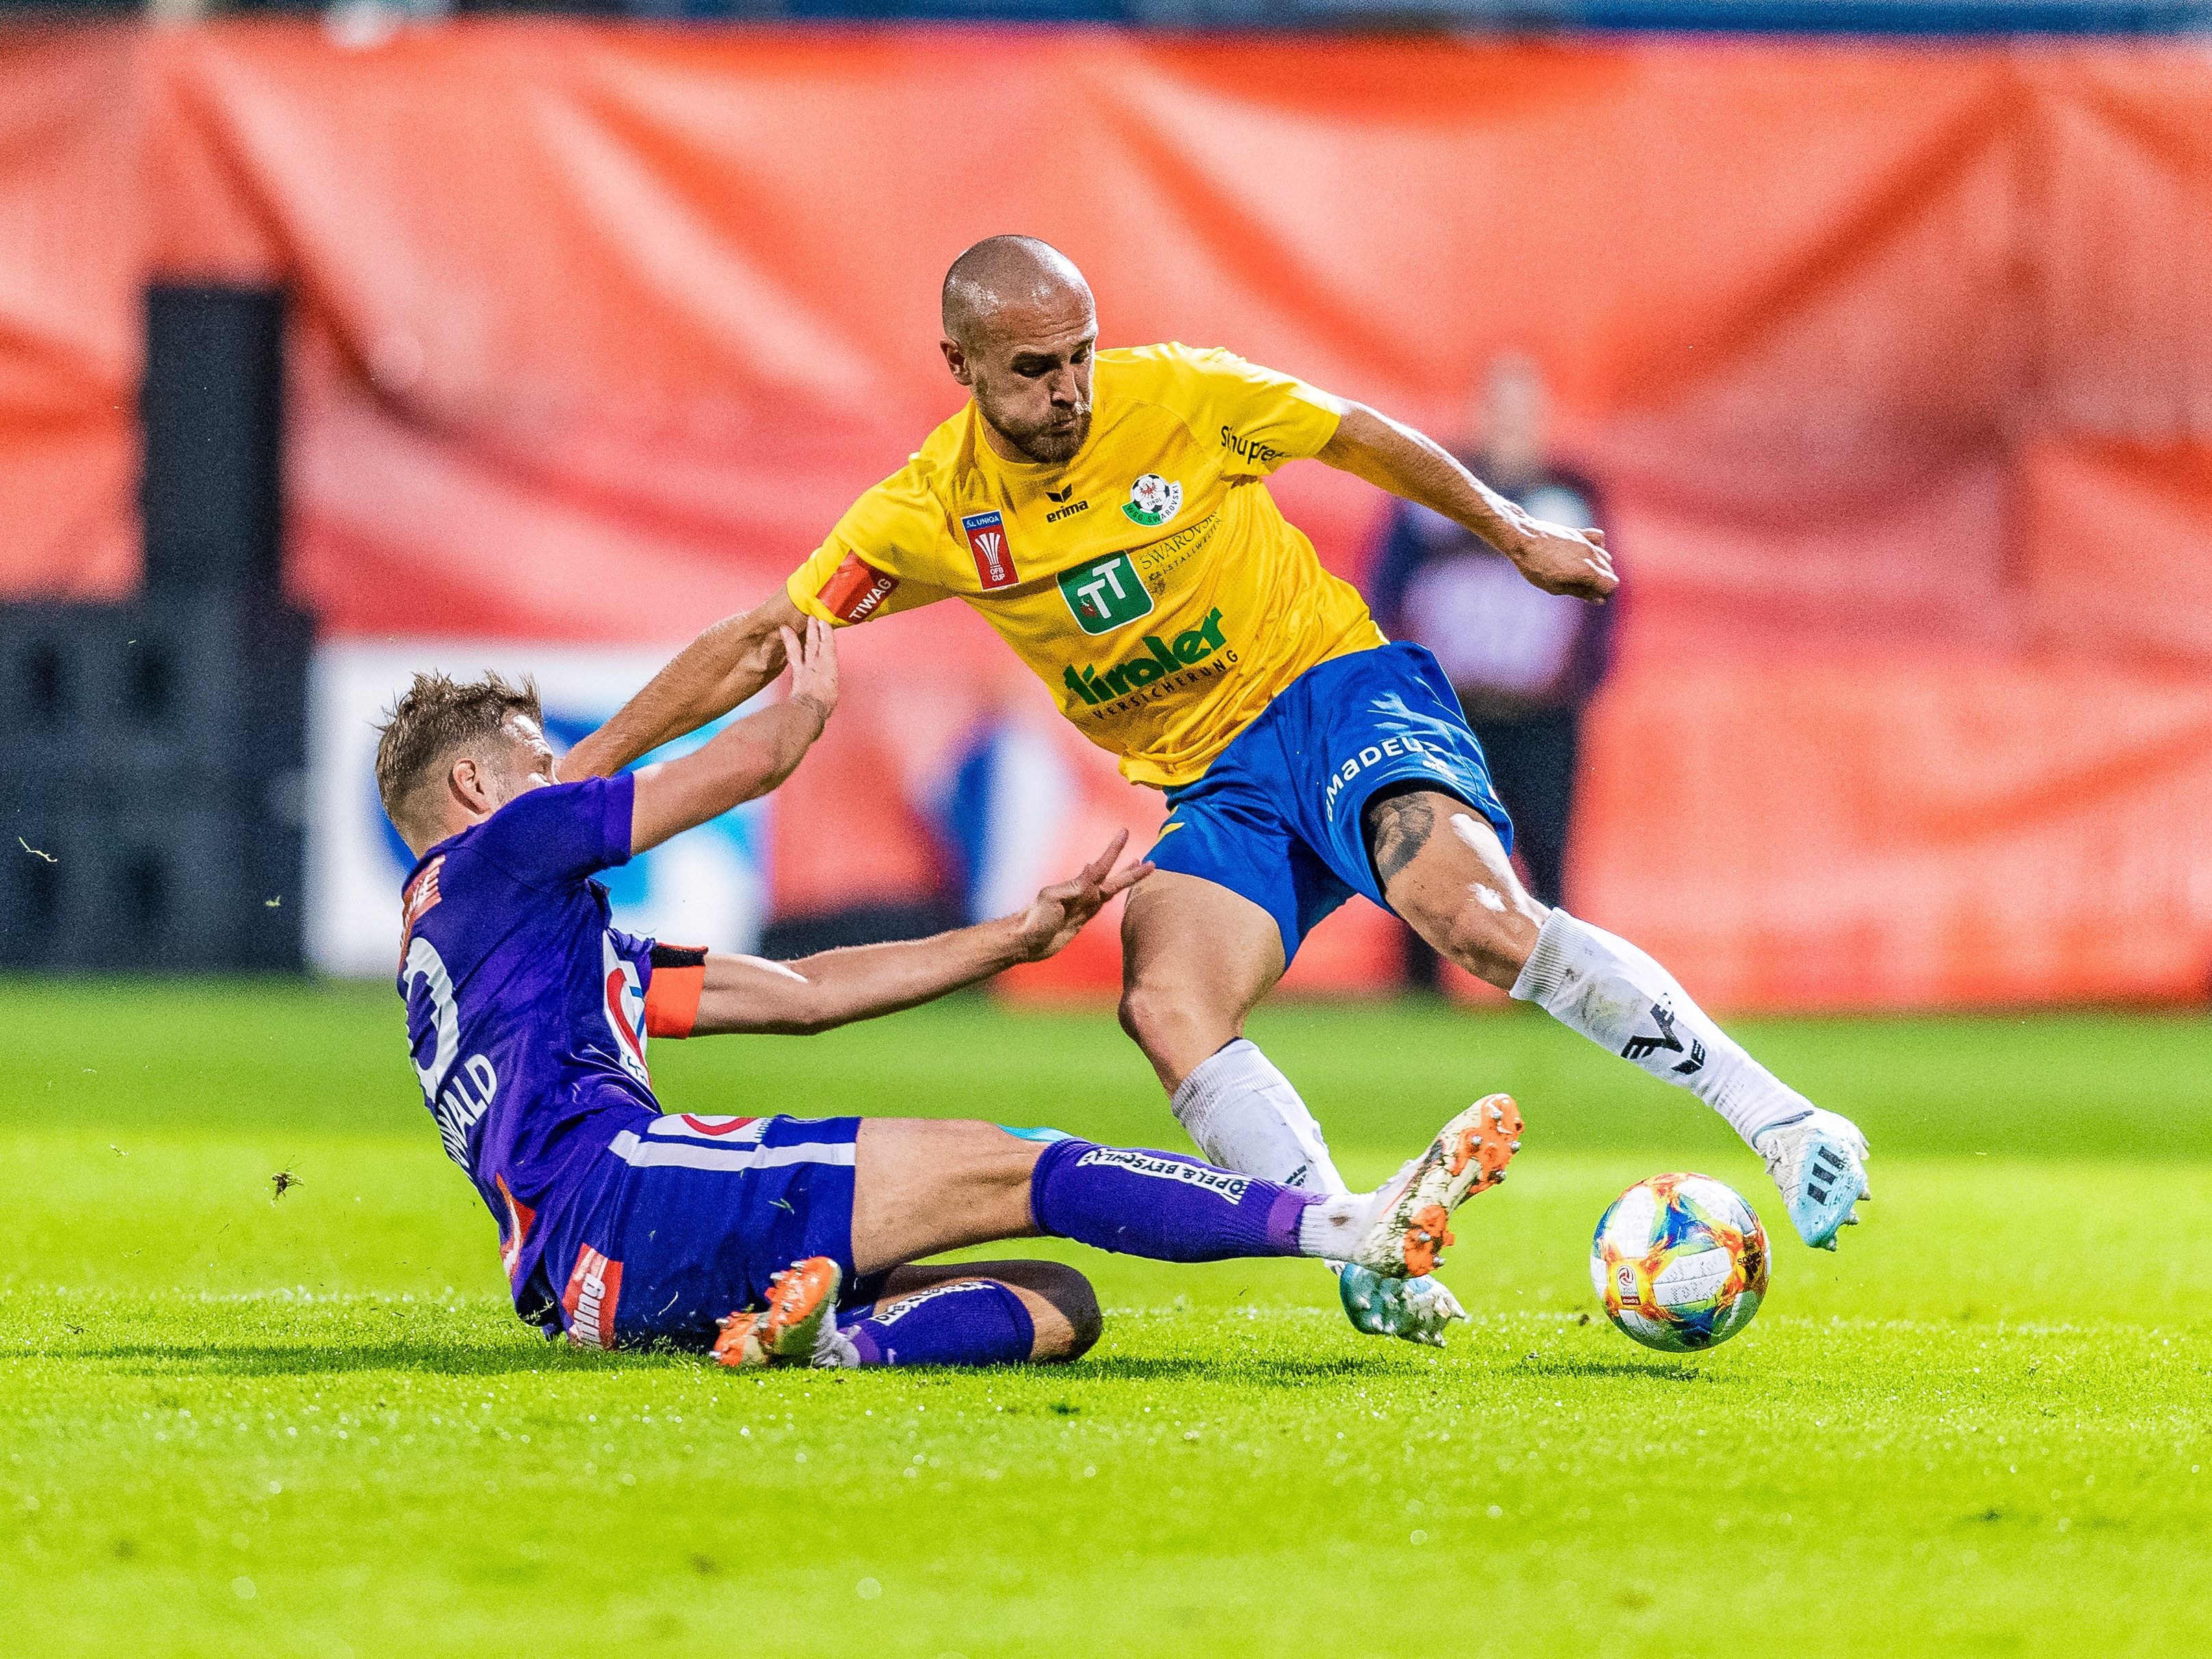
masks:
<svg viewBox="0 0 2212 1659"><path fill-rule="evenodd" d="M1743 1053L1672 973L1564 909L1535 936L1513 995L1652 1077L1688 1088L1745 1141L1812 1110L1809 1099Z"/></svg>

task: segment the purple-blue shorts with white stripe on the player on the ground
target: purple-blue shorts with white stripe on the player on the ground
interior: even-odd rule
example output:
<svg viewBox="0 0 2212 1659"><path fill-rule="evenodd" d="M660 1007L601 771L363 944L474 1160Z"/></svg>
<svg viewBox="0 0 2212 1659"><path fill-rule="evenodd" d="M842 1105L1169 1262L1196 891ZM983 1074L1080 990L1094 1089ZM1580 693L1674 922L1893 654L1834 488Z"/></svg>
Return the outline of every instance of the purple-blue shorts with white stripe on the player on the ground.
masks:
<svg viewBox="0 0 2212 1659"><path fill-rule="evenodd" d="M714 1321L761 1305L803 1256L843 1267L845 1301L872 1298L852 1270L858 1135L858 1117L690 1113L622 1130L560 1228L571 1259L544 1265L568 1340L712 1347Z"/></svg>

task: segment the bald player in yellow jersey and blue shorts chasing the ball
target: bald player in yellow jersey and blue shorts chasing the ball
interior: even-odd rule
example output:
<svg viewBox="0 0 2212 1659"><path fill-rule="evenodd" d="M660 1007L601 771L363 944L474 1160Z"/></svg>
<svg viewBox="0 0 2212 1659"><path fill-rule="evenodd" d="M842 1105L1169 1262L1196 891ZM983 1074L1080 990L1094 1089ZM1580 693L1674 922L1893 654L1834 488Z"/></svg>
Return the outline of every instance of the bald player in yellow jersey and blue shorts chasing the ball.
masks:
<svg viewBox="0 0 2212 1659"><path fill-rule="evenodd" d="M958 597L1124 776L1168 794L1157 872L1121 922L1121 1024L1214 1164L1345 1190L1298 1091L1241 1033L1305 933L1365 894L1469 973L1719 1110L1805 1241L1834 1248L1867 1197L1865 1137L1644 951L1522 889L1513 825L1436 659L1383 637L1263 480L1292 460L1340 467L1590 602L1615 588L1604 538L1537 522L1422 434L1228 352L1097 349L1088 283L1031 237L960 254L940 349L967 407L562 776L628 765L752 697L805 617L854 626ZM1464 1316L1431 1279L1347 1267L1340 1292L1354 1325L1411 1340Z"/></svg>

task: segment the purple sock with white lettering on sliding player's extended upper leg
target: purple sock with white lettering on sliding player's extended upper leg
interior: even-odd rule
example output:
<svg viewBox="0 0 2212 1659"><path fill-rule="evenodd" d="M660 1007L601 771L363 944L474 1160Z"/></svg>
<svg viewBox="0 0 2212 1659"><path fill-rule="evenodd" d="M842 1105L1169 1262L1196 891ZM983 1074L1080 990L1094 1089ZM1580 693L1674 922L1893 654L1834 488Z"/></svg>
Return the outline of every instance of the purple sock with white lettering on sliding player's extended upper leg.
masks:
<svg viewBox="0 0 2212 1659"><path fill-rule="evenodd" d="M1298 1217L1321 1199L1177 1152L1077 1139L1046 1146L1029 1177L1037 1228L1155 1261L1296 1256Z"/></svg>

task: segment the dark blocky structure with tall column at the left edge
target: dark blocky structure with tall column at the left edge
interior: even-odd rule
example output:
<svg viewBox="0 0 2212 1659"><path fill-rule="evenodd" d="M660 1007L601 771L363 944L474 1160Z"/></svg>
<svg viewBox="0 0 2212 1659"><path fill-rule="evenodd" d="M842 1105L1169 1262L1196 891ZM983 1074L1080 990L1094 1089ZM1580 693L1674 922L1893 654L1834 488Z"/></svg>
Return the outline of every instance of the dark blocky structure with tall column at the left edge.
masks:
<svg viewBox="0 0 2212 1659"><path fill-rule="evenodd" d="M299 969L307 650L283 294L155 288L144 588L0 606L0 967Z"/></svg>

